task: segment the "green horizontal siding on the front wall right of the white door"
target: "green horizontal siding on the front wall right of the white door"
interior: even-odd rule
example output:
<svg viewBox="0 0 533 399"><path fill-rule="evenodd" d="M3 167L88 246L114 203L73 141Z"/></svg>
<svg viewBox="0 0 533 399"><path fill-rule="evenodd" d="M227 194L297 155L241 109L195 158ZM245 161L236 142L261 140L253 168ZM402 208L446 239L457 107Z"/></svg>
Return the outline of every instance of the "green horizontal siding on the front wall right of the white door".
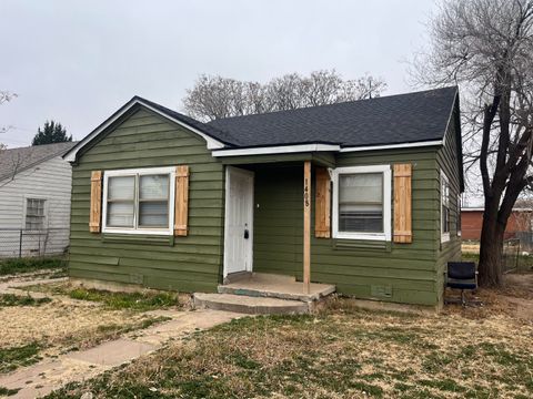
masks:
<svg viewBox="0 0 533 399"><path fill-rule="evenodd" d="M361 241L356 242L359 247L350 247L350 243L341 247L335 245L335 239L314 238L313 234L311 279L335 284L338 291L360 298L385 299L375 295L375 288L391 287L392 297L385 300L436 305L440 238L436 150L346 153L335 162L338 166L413 164L413 243L372 247L371 243ZM255 170L255 272L302 278L302 165ZM314 186L312 188L314 193ZM314 196L312 209L314 233Z"/></svg>

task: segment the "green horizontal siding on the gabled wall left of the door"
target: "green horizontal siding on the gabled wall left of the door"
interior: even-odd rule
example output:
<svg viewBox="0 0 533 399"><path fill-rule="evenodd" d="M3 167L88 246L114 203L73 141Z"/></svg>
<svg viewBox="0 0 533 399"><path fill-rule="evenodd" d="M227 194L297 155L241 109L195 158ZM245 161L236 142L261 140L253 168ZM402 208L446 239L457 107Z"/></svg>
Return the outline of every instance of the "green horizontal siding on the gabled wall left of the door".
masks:
<svg viewBox="0 0 533 399"><path fill-rule="evenodd" d="M187 237L89 233L91 171L190 167ZM214 291L223 247L223 165L194 133L139 110L87 150L72 171L70 275L151 288Z"/></svg>

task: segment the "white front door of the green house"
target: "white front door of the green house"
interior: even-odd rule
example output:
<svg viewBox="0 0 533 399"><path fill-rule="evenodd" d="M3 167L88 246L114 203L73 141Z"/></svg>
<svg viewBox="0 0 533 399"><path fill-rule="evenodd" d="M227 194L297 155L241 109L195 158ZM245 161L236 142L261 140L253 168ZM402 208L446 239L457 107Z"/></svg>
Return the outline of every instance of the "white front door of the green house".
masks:
<svg viewBox="0 0 533 399"><path fill-rule="evenodd" d="M224 274L252 272L253 173L233 166L225 174Z"/></svg>

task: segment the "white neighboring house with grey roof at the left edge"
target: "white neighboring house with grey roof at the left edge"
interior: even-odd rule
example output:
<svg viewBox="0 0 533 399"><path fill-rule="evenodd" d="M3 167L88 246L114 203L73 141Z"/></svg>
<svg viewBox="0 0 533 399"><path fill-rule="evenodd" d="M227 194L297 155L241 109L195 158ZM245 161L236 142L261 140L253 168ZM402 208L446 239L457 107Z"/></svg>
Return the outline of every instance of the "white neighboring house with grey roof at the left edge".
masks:
<svg viewBox="0 0 533 399"><path fill-rule="evenodd" d="M69 245L74 143L0 151L0 257L51 255Z"/></svg>

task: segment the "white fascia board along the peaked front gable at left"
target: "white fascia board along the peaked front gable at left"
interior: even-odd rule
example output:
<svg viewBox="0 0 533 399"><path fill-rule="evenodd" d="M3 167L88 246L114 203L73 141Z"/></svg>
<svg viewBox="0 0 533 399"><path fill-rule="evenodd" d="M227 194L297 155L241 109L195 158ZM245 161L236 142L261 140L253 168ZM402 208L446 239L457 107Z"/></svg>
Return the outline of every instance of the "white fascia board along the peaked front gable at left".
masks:
<svg viewBox="0 0 533 399"><path fill-rule="evenodd" d="M124 106L123 106L123 110L118 113L117 115L114 115L111 120L109 120L105 124L101 125L100 127L98 127L97 130L94 130L92 133L90 133L89 135L87 135L82 141L80 141L80 143L78 145L74 145L74 147L72 147L67 154L63 155L63 158L68 162L74 162L76 161L76 154L78 153L78 151L80 151L81 149L83 149L83 146L89 143L92 139L94 139L95 136L98 136L101 132L103 132L105 129L108 129L110 125L112 125L117 120L119 120L125 112L128 112L132 106L137 105L137 104L140 104L147 109L149 109L150 111L163 116L164 119L169 120L169 121L172 121L188 130L190 130L191 132L194 132L195 134L198 134L199 136L201 136L203 140L205 140L205 142L208 143L208 150L217 150L217 149L223 149L224 147L224 144L219 142L218 140L207 135L205 133L199 131L198 129L193 127L193 126L190 126L189 124L184 123L184 122L181 122L174 117L171 117L169 116L168 114L154 109L153 106L144 103L143 101L141 100L132 100L130 101L129 103L127 103Z"/></svg>

